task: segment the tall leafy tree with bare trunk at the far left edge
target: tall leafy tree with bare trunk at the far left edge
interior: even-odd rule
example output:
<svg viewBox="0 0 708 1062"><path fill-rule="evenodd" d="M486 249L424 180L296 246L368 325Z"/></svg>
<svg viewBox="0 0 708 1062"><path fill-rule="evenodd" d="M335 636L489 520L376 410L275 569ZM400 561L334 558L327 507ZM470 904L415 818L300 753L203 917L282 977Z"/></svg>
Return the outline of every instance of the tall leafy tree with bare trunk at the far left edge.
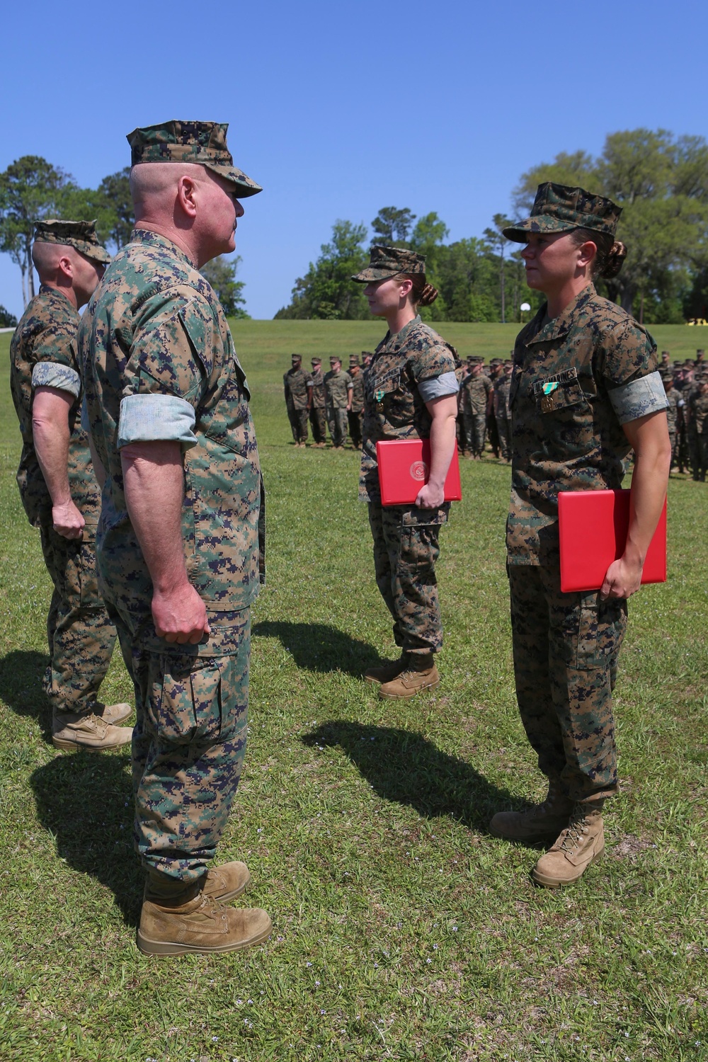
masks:
<svg viewBox="0 0 708 1062"><path fill-rule="evenodd" d="M19 266L24 306L34 297L32 238L42 218L58 213L63 190L75 187L70 174L39 155L22 155L0 173L0 251Z"/></svg>

